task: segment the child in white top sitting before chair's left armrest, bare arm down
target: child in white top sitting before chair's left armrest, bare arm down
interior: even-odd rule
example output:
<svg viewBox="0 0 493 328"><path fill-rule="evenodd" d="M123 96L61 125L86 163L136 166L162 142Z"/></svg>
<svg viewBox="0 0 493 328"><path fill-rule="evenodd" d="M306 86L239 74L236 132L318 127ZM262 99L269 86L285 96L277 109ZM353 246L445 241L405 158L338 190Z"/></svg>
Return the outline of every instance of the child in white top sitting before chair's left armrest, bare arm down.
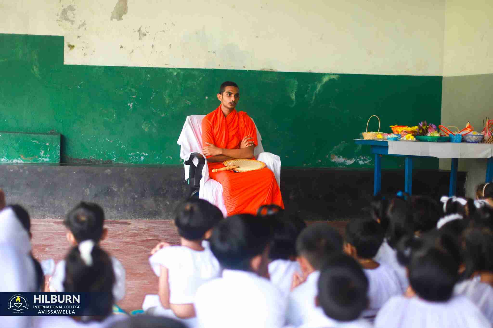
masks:
<svg viewBox="0 0 493 328"><path fill-rule="evenodd" d="M195 317L193 301L197 289L220 275L219 263L202 242L210 237L212 227L222 219L221 211L203 199L189 199L178 205L175 225L181 245L165 246L149 258L159 277L160 304L154 304L147 297L142 305L144 310L149 314L180 319ZM193 319L185 323L194 326L195 322Z"/></svg>

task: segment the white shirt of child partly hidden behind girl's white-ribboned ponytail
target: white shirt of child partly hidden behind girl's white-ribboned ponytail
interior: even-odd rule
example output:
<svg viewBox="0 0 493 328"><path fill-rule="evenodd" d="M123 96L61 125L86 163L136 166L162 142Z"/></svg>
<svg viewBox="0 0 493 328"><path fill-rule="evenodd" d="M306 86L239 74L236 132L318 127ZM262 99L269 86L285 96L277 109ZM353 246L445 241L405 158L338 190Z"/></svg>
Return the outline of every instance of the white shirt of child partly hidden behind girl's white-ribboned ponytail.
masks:
<svg viewBox="0 0 493 328"><path fill-rule="evenodd" d="M113 272L115 273L115 284L113 285L113 298L115 303L125 296L125 268L115 257L110 257ZM55 272L50 279L50 291L63 292L63 282L65 280L65 260L57 263Z"/></svg>

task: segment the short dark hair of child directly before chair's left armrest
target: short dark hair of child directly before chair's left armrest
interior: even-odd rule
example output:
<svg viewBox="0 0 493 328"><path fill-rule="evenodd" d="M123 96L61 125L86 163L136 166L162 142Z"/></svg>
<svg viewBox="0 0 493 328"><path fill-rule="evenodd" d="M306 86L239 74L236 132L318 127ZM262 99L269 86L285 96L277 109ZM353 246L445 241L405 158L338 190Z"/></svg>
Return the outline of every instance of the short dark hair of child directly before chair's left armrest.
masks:
<svg viewBox="0 0 493 328"><path fill-rule="evenodd" d="M184 239L198 240L222 219L222 212L208 201L190 198L176 208L175 225Z"/></svg>

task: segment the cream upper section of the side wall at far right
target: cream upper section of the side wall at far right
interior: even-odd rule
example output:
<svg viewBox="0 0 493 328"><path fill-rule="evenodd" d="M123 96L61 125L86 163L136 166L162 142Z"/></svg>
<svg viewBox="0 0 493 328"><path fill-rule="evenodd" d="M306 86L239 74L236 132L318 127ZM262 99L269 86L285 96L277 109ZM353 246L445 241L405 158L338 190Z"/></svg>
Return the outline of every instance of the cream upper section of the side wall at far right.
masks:
<svg viewBox="0 0 493 328"><path fill-rule="evenodd" d="M447 0L443 76L493 73L493 1Z"/></svg>

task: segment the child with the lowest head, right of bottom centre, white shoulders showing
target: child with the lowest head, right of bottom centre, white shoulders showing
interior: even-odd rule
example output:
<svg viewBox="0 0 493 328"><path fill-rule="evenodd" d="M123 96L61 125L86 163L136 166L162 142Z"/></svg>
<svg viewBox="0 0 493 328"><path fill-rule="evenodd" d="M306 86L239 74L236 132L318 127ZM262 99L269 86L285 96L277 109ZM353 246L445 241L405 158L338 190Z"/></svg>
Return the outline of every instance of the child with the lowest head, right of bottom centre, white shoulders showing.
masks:
<svg viewBox="0 0 493 328"><path fill-rule="evenodd" d="M299 328L370 328L361 319L368 304L368 278L356 260L345 254L331 257L320 271L317 310Z"/></svg>

